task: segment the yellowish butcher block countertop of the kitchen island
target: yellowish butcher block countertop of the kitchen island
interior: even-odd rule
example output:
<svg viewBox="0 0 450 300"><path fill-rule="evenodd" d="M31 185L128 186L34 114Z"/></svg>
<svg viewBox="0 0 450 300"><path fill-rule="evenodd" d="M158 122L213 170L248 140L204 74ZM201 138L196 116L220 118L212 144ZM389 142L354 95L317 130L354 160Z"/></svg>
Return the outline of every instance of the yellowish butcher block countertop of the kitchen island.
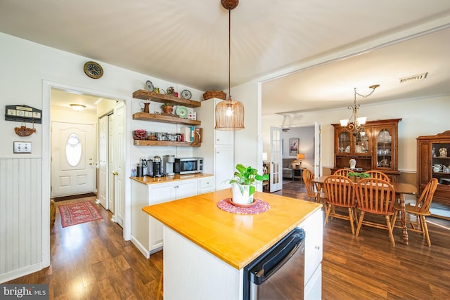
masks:
<svg viewBox="0 0 450 300"><path fill-rule="evenodd" d="M232 214L217 207L231 189L143 207L150 216L240 270L288 234L322 204L269 193L255 199L270 204L262 214Z"/></svg>

